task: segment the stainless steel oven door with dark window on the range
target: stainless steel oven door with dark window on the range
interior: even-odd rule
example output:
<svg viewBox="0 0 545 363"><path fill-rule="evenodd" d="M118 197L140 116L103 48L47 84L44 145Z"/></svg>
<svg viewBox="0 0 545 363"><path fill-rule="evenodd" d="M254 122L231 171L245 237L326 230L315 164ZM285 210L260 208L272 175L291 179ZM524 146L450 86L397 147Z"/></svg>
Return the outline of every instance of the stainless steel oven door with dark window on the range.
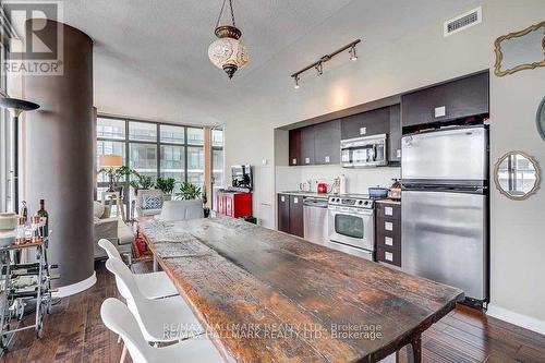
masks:
<svg viewBox="0 0 545 363"><path fill-rule="evenodd" d="M374 225L372 209L329 209L329 241L374 251Z"/></svg>

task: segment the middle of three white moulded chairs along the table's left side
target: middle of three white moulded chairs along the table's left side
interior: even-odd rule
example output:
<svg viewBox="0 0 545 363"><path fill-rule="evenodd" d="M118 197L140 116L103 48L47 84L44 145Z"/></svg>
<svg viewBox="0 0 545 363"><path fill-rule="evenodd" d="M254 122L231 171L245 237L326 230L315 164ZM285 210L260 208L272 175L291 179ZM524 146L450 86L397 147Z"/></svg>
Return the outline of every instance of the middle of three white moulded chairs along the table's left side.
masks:
<svg viewBox="0 0 545 363"><path fill-rule="evenodd" d="M129 268L117 258L108 258L106 268L116 276L116 283L145 339L149 342L169 342L195 337L203 327L182 297L159 300L146 299L138 290ZM170 331L169 327L175 327Z"/></svg>

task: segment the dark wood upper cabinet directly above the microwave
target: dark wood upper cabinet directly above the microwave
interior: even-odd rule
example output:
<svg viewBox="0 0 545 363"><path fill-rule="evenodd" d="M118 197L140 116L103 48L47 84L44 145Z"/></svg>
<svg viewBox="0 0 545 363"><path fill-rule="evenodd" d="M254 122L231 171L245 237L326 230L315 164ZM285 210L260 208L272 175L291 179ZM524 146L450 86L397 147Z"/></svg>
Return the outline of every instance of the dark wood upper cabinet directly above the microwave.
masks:
<svg viewBox="0 0 545 363"><path fill-rule="evenodd" d="M358 113L341 119L341 138L387 134L390 128L390 108Z"/></svg>

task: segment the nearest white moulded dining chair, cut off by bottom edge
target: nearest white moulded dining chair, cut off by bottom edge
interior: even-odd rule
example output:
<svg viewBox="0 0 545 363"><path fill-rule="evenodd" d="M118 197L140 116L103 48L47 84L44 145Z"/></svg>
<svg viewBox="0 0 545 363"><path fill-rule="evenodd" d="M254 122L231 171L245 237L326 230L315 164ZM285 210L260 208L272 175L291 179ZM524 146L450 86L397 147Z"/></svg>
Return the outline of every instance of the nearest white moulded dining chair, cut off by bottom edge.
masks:
<svg viewBox="0 0 545 363"><path fill-rule="evenodd" d="M100 316L108 329L122 337L134 363L223 362L206 335L164 348L149 346L134 315L118 299L106 299L100 307Z"/></svg>

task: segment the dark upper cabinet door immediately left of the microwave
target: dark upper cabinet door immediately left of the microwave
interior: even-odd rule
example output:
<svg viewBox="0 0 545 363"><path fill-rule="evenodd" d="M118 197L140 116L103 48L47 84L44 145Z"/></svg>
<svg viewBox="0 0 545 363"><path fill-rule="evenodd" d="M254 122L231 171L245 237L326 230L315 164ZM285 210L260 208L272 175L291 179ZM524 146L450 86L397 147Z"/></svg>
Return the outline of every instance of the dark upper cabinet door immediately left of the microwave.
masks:
<svg viewBox="0 0 545 363"><path fill-rule="evenodd" d="M340 162L340 120L314 125L314 164Z"/></svg>

